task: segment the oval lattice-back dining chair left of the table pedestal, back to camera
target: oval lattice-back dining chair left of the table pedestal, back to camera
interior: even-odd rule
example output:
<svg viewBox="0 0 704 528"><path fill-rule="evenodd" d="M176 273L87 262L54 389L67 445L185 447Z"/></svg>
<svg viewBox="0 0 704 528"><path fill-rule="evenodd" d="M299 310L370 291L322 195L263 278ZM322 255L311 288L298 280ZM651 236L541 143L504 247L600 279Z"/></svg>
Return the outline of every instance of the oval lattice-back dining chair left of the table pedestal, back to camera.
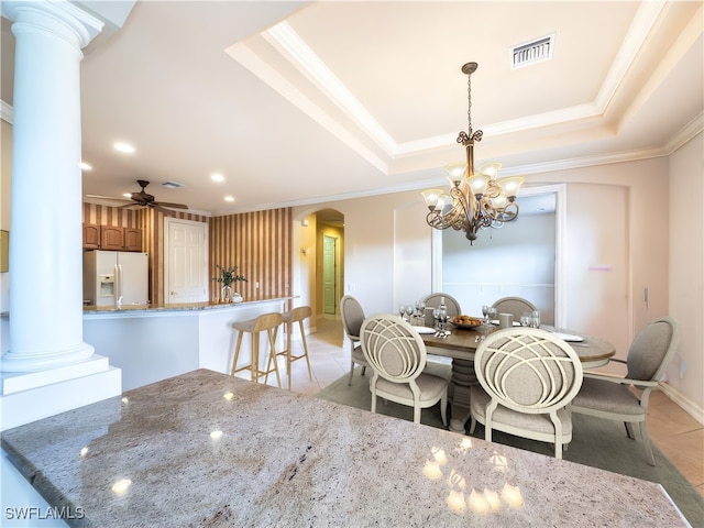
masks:
<svg viewBox="0 0 704 528"><path fill-rule="evenodd" d="M448 425L449 380L424 372L426 344L418 332L398 316L377 315L364 319L360 330L362 352L374 372L370 381L372 413L376 398L414 408L414 422L420 410L440 402L442 424Z"/></svg>

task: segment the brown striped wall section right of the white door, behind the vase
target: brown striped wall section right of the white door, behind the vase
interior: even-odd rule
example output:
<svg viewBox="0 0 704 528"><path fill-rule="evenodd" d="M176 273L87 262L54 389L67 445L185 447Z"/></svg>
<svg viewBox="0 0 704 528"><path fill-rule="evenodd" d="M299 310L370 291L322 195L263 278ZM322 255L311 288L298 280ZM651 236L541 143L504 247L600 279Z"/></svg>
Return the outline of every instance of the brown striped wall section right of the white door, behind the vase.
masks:
<svg viewBox="0 0 704 528"><path fill-rule="evenodd" d="M238 266L248 280L234 285L245 299L292 293L292 208L210 219L210 267ZM257 288L258 285L258 288ZM220 290L213 282L212 296Z"/></svg>

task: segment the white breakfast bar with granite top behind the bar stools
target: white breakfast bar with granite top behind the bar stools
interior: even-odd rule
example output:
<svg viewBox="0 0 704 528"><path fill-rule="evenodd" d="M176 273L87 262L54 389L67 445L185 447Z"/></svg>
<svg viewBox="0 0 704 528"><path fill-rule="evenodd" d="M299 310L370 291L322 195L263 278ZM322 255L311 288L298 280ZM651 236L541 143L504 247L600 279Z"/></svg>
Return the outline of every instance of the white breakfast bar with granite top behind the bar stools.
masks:
<svg viewBox="0 0 704 528"><path fill-rule="evenodd" d="M283 312L292 299L262 296L237 304L87 307L84 340L122 370L123 391L196 369L229 373L237 338L232 323ZM267 350L265 339L261 336L261 350ZM251 350L250 337L244 340L243 362ZM284 329L278 332L277 350L282 350L283 340Z"/></svg>

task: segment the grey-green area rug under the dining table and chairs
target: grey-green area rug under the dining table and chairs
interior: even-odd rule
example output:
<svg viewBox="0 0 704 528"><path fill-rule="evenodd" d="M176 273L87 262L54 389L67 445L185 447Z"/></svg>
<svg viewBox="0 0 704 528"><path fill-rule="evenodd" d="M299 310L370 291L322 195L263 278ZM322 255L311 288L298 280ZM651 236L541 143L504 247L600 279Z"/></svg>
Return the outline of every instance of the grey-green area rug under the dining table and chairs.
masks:
<svg viewBox="0 0 704 528"><path fill-rule="evenodd" d="M450 367L449 365L428 363L428 369L435 374L448 376ZM358 409L371 409L372 394L369 388L369 373L361 376L361 367L358 367L351 386L348 385L348 380L349 375L342 376L320 391L316 397ZM376 409L381 415L413 421L413 408L410 407L393 402L384 403L380 399ZM420 422L447 429L442 425L439 405L424 409ZM484 428L481 424L477 424L472 436L484 439ZM501 431L494 432L493 441L548 457L554 454L554 448L549 443L527 440ZM652 450L657 464L654 468L648 464L642 442L637 432L636 440L630 440L626 437L623 424L575 414L573 415L572 442L568 451L563 453L563 459L660 483L690 524L695 528L704 527L704 497L656 446L652 447Z"/></svg>

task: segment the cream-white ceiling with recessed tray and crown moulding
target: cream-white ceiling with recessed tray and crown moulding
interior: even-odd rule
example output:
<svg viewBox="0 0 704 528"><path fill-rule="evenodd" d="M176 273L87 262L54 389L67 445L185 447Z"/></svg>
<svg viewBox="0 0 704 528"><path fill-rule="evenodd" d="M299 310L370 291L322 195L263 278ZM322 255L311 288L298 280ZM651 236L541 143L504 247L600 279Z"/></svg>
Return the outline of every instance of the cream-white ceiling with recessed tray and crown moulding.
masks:
<svg viewBox="0 0 704 528"><path fill-rule="evenodd" d="M477 165L537 183L668 155L703 128L703 19L702 1L138 1L82 61L84 191L146 179L227 215L442 185L464 155L468 62ZM551 61L510 68L513 46L550 34Z"/></svg>

